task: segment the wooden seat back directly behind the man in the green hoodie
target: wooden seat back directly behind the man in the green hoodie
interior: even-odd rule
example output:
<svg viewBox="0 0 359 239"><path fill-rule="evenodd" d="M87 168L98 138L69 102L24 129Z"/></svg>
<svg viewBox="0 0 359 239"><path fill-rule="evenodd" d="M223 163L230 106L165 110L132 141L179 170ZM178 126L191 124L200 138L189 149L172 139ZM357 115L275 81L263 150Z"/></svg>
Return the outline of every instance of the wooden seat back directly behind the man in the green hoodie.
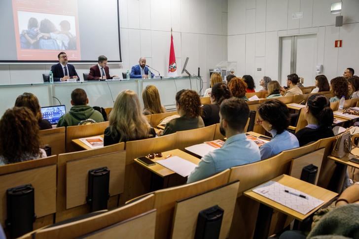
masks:
<svg viewBox="0 0 359 239"><path fill-rule="evenodd" d="M105 129L108 127L108 121L90 124L90 125L76 125L66 128L66 152L74 152L83 150L80 146L74 144L72 139L103 135Z"/></svg>

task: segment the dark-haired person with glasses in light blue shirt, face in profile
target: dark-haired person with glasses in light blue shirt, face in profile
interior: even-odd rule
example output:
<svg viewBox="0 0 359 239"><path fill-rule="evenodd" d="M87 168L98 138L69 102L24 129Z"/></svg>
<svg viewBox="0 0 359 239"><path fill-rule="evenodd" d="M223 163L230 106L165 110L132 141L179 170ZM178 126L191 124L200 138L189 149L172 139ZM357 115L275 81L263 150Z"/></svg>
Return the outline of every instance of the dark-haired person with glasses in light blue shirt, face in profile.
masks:
<svg viewBox="0 0 359 239"><path fill-rule="evenodd" d="M297 137L286 130L290 122L287 105L278 100L269 100L258 107L258 113L257 123L273 137L259 148L261 160L299 147Z"/></svg>

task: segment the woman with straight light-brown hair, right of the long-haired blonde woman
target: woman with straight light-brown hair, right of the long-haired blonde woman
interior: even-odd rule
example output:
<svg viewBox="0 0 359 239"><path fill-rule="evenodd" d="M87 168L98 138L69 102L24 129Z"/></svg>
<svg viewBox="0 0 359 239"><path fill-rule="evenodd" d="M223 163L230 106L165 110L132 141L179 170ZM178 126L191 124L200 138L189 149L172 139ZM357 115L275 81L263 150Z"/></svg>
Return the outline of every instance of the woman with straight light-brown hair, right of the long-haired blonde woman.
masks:
<svg viewBox="0 0 359 239"><path fill-rule="evenodd" d="M144 115L166 112L166 108L161 104L160 94L154 85L147 85L144 88L142 99L144 101Z"/></svg>

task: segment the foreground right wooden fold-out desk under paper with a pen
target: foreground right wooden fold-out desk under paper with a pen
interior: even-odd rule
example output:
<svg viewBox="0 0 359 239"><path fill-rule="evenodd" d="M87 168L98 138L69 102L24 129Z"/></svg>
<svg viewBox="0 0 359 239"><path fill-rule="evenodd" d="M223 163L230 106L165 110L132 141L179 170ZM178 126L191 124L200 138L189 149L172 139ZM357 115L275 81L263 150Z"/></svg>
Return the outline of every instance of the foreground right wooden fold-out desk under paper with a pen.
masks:
<svg viewBox="0 0 359 239"><path fill-rule="evenodd" d="M269 227L270 227L270 222L271 222L271 218L272 218L272 214L273 214L273 209L278 210L282 213L285 213L288 216L294 217L295 219L297 219L299 221L303 221L304 219L306 219L307 217L312 215L314 212L316 212L319 208L321 208L321 206L323 206L325 203L329 202L330 200L332 200L334 197L336 197L338 195L337 193L334 193L334 192L331 192L324 188L318 187L314 184L304 182L302 180L288 176L286 174L276 177L276 178L272 179L271 181L276 181L285 186L302 191L310 196L313 196L319 200L322 200L323 204L317 206L316 208L314 208L307 214L303 215L289 207L281 205L277 202L274 202L264 196L261 196L255 192L253 192L252 190L254 188L256 188L256 187L254 187L254 188L244 192L245 196L260 203L253 238L259 238L259 239L268 238Z"/></svg>

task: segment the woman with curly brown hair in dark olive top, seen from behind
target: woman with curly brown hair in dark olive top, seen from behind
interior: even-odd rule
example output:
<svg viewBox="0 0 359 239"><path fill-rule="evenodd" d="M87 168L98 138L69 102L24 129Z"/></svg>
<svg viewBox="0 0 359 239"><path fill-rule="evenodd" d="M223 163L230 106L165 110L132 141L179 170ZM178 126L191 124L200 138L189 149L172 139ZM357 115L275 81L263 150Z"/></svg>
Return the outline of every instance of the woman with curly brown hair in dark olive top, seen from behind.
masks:
<svg viewBox="0 0 359 239"><path fill-rule="evenodd" d="M193 130L205 126L201 118L201 100L197 92L181 90L176 94L176 108L179 118L167 123L162 135L169 135L182 130Z"/></svg>

